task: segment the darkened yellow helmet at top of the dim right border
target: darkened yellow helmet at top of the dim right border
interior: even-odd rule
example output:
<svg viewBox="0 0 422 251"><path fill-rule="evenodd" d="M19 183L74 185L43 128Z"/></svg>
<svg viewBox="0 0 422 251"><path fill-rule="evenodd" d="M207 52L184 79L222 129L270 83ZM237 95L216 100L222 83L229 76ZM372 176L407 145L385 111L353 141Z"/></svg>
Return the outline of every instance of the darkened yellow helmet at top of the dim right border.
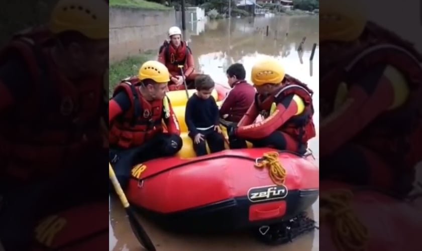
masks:
<svg viewBox="0 0 422 251"><path fill-rule="evenodd" d="M355 41L366 26L361 0L324 0L320 2L320 42Z"/></svg>

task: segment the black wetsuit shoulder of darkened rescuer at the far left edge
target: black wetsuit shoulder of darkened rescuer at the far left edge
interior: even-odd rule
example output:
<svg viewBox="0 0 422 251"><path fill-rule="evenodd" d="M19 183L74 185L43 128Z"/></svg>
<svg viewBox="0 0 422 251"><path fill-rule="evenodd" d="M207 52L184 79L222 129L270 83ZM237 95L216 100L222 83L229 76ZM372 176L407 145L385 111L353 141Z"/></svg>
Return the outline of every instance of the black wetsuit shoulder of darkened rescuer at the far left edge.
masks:
<svg viewBox="0 0 422 251"><path fill-rule="evenodd" d="M29 67L18 56L0 66L0 81L10 90L16 101L25 100L32 91Z"/></svg>

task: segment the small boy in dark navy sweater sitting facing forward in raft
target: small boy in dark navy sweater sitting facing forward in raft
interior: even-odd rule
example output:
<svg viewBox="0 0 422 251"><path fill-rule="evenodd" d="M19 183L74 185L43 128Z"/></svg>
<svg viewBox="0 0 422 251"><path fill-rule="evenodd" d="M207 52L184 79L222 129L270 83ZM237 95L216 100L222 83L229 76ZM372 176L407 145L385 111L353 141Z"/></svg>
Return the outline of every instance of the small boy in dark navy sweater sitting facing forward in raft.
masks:
<svg viewBox="0 0 422 251"><path fill-rule="evenodd" d="M208 75L195 78L196 93L186 103L185 122L196 156L206 155L205 141L212 153L224 150L224 136L219 126L219 107L211 95L215 83Z"/></svg>

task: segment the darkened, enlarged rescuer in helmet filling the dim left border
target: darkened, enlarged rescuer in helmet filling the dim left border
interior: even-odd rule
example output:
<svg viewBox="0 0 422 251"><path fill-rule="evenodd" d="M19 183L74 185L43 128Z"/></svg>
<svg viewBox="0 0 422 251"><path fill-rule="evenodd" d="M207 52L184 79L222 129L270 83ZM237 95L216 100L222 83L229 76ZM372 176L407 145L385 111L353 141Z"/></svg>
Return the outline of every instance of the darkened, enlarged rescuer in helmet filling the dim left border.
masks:
<svg viewBox="0 0 422 251"><path fill-rule="evenodd" d="M6 250L32 249L40 217L57 212L51 202L65 210L104 194L108 39L107 2L60 0L47 27L14 35L0 51L0 239Z"/></svg>

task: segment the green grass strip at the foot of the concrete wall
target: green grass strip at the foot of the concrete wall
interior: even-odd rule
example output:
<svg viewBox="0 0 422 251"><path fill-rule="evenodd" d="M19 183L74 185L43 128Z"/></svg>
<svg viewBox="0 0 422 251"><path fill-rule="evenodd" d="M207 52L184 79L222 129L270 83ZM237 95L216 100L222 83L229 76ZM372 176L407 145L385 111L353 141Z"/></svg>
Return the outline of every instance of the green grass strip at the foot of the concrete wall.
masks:
<svg viewBox="0 0 422 251"><path fill-rule="evenodd" d="M152 60L154 56L156 53L149 51L111 64L109 67L109 95L113 94L114 88L122 79L137 75L141 65L145 61Z"/></svg>

